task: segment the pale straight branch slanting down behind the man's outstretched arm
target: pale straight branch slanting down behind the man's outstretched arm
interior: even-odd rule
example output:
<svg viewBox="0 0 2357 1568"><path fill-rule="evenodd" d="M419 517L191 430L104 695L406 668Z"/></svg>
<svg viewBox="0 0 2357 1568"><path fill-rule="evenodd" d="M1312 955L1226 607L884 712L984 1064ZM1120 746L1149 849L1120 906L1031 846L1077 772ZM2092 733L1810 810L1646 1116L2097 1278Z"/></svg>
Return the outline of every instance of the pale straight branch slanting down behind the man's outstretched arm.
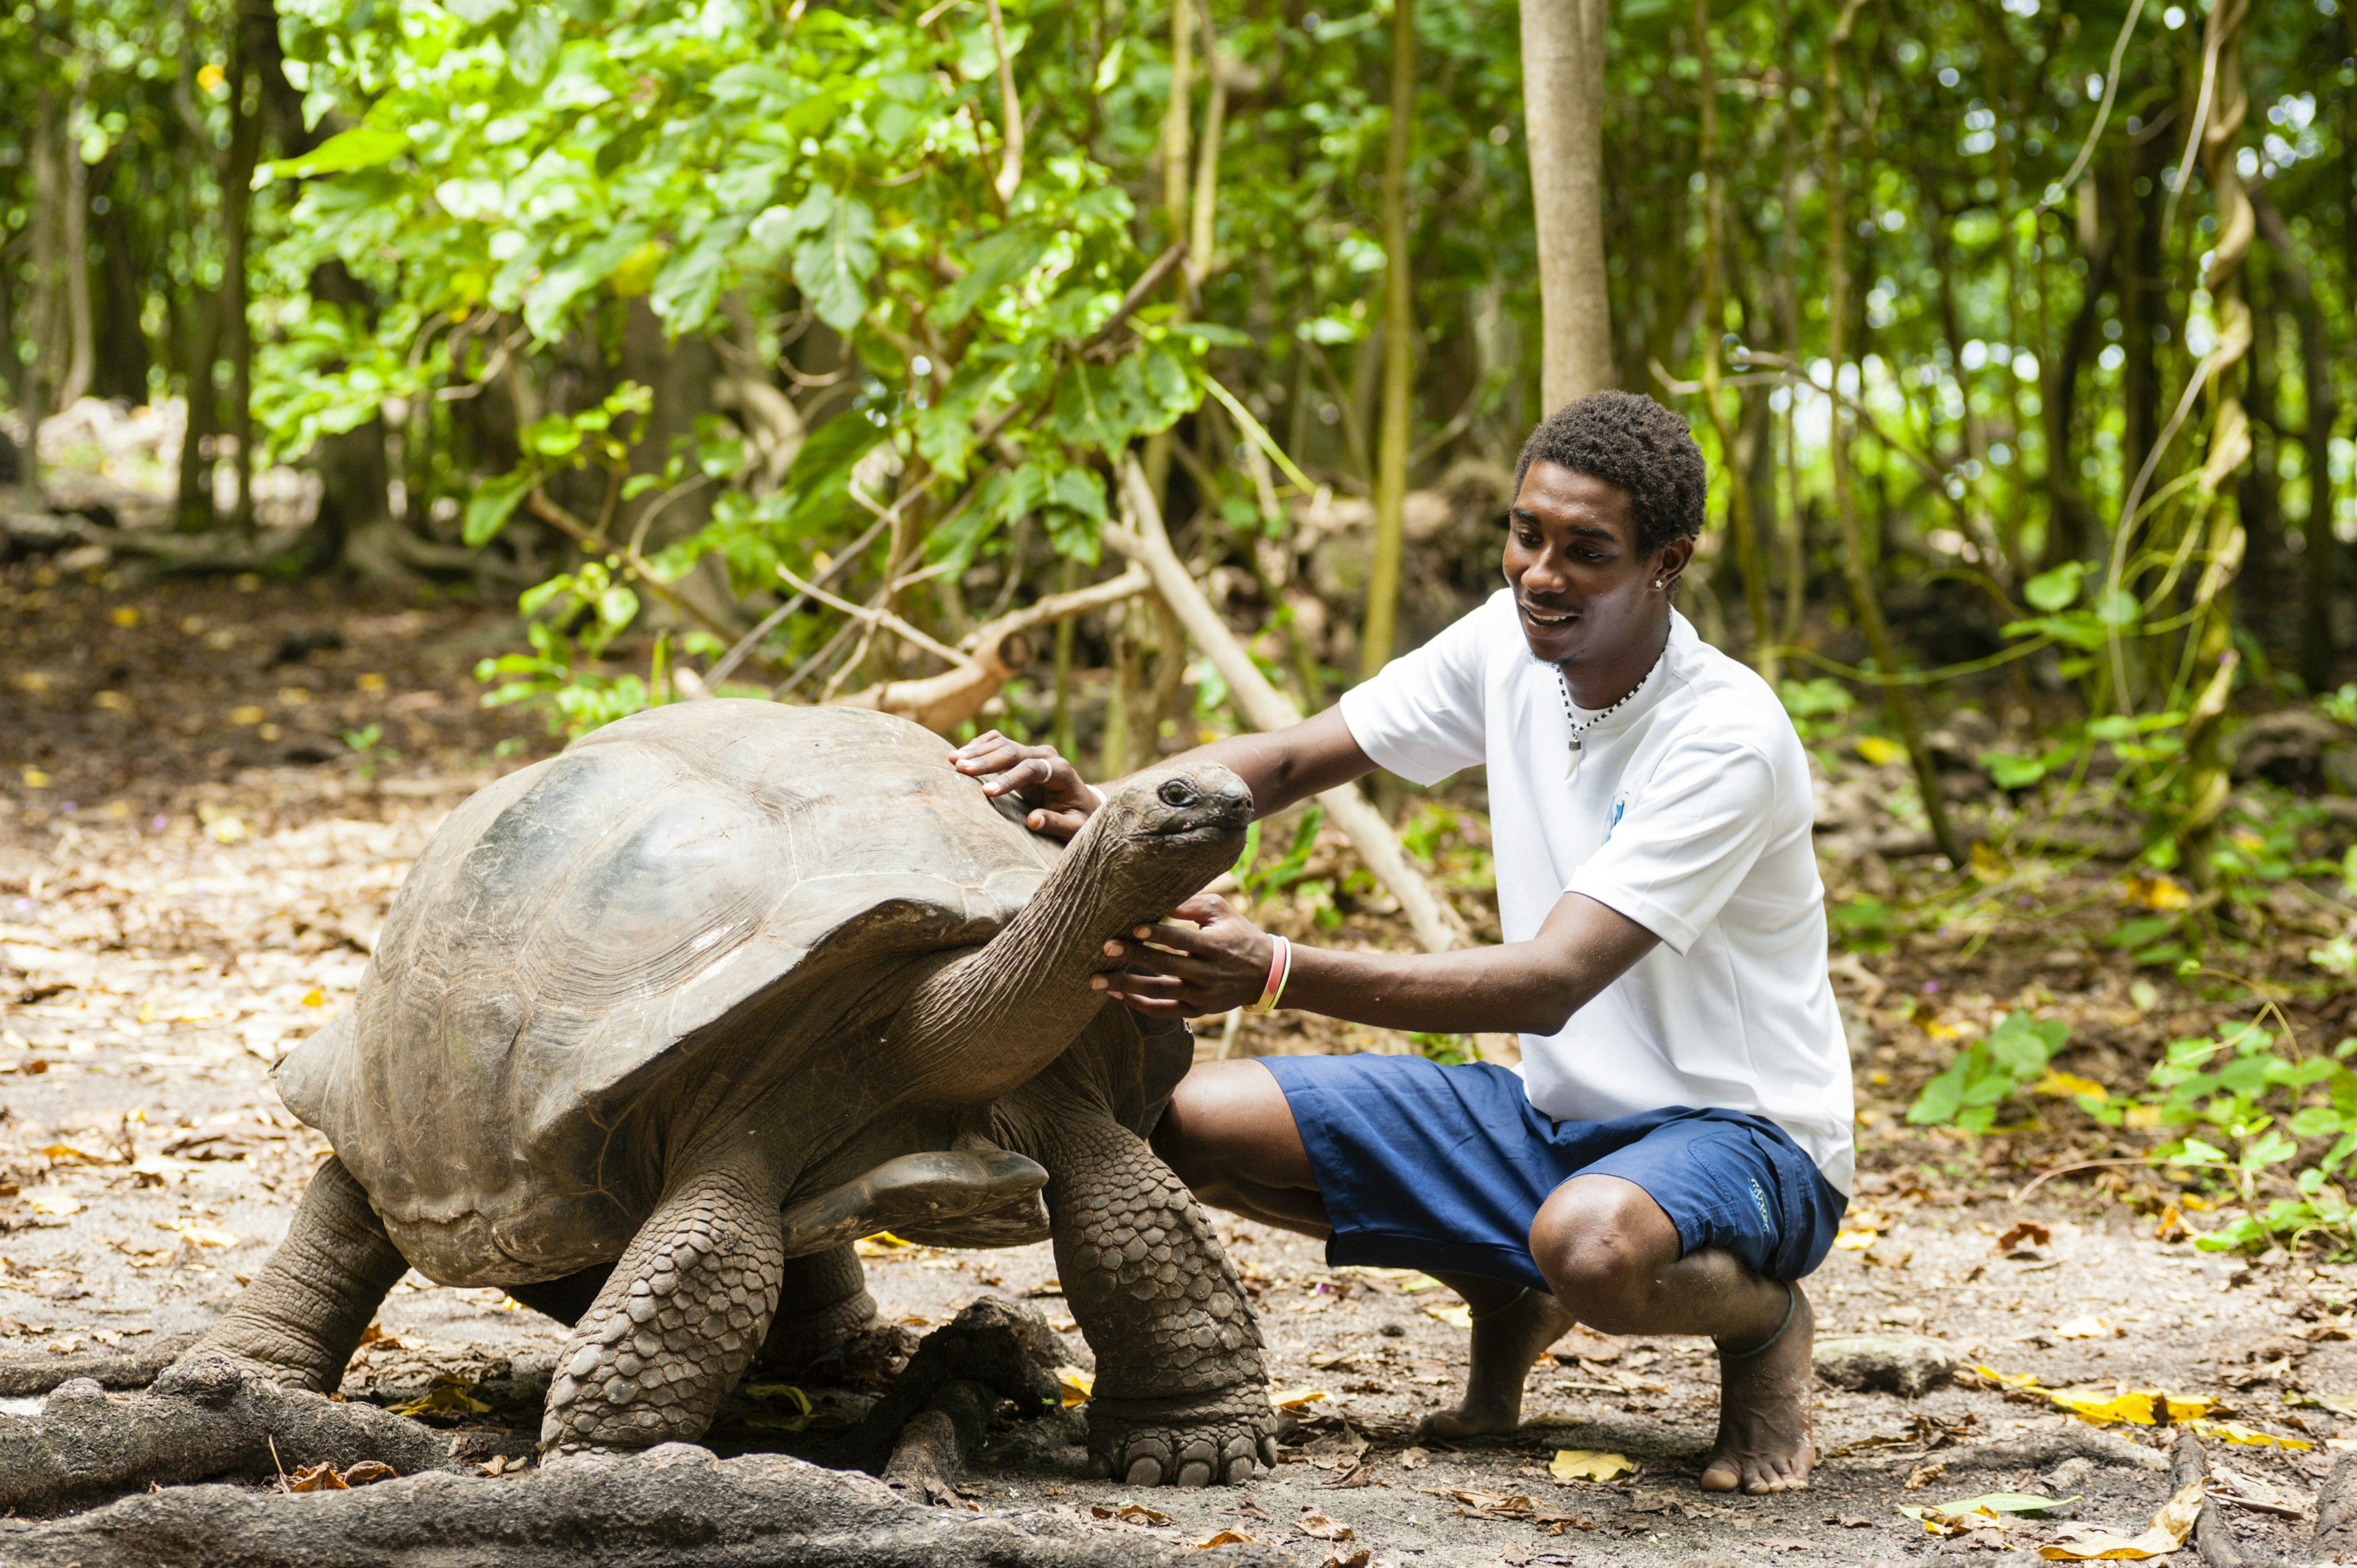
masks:
<svg viewBox="0 0 2357 1568"><path fill-rule="evenodd" d="M1235 641L1228 622L1219 618L1211 601L1195 587L1195 578L1186 564L1178 561L1178 552L1171 549L1169 533L1162 528L1162 507L1155 505L1153 488L1146 483L1146 469L1129 453L1122 455L1122 516L1129 526L1108 523L1103 540L1153 575L1155 592L1162 594L1164 604L1171 606L1186 627L1186 634L1211 660L1221 679L1228 681L1228 691L1235 696L1244 722L1254 729L1299 724L1301 710L1268 684L1261 667ZM1398 835L1391 832L1391 823L1384 821L1384 813L1355 785L1336 785L1320 795L1318 802L1325 806L1327 821L1351 835L1358 858L1365 861L1376 882L1388 887L1391 896L1400 901L1400 913L1407 915L1419 948L1426 953L1447 953L1450 948L1468 946L1471 938L1464 922L1457 920L1457 910L1442 903L1424 875L1409 865L1407 851L1400 849Z"/></svg>

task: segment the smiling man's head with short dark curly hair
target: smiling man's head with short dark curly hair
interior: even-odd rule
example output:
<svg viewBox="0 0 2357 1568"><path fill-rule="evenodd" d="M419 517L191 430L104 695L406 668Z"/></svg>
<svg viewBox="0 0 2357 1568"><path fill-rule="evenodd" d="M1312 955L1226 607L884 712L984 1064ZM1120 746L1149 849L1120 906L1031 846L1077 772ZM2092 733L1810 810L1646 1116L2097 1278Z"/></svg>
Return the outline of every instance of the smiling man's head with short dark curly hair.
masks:
<svg viewBox="0 0 2357 1568"><path fill-rule="evenodd" d="M1685 420L1648 396L1593 391L1530 431L1504 566L1532 658L1650 658L1706 493Z"/></svg>

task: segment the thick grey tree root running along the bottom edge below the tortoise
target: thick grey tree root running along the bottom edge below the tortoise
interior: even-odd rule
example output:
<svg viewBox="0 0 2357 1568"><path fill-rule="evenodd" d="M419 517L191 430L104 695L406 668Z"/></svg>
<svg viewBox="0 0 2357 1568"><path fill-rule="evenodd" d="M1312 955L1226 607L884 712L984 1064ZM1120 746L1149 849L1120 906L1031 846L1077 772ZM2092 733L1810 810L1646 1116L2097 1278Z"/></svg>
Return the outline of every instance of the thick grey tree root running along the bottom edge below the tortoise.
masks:
<svg viewBox="0 0 2357 1568"><path fill-rule="evenodd" d="M573 1457L502 1478L453 1474L299 1497L200 1485L54 1523L0 1521L24 1568L1280 1568L1261 1547L1174 1549L905 1502L879 1481L785 1455L714 1460L688 1443Z"/></svg>

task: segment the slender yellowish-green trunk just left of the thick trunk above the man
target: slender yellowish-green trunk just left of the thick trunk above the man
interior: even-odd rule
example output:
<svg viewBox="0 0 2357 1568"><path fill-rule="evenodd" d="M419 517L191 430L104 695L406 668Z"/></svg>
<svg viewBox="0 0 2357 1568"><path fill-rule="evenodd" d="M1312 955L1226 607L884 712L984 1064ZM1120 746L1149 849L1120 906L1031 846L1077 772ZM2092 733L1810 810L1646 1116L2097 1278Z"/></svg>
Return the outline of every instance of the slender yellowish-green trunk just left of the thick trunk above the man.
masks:
<svg viewBox="0 0 2357 1568"><path fill-rule="evenodd" d="M1400 519L1407 507L1409 382L1417 370L1417 290L1407 255L1407 137L1417 106L1414 0L1391 5L1391 137L1384 146L1384 436L1374 460L1374 566L1358 672L1391 663L1400 618Z"/></svg>

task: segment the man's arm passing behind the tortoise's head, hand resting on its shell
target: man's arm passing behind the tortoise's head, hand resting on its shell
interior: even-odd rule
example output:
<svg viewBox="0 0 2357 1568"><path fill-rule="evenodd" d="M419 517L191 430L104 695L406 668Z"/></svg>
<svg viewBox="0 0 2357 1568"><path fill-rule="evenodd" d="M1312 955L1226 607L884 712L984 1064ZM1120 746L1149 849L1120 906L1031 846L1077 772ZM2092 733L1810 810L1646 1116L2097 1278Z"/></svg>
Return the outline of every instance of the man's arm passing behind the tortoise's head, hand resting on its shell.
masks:
<svg viewBox="0 0 2357 1568"><path fill-rule="evenodd" d="M1273 816L1296 799L1374 771L1374 759L1358 747L1351 726L1343 724L1341 707L1327 707L1315 719L1301 719L1277 731L1228 736L1155 766L1186 766L1188 762L1216 762L1242 778L1252 788L1254 816ZM1063 839L1080 832L1080 825L1105 802L1103 795L1082 783L1070 762L1056 755L1056 747L1018 745L999 731L976 736L957 747L955 766L959 773L983 778L985 795L1014 792L1032 809L1035 832L1054 832ZM995 778L990 778L992 773Z"/></svg>

